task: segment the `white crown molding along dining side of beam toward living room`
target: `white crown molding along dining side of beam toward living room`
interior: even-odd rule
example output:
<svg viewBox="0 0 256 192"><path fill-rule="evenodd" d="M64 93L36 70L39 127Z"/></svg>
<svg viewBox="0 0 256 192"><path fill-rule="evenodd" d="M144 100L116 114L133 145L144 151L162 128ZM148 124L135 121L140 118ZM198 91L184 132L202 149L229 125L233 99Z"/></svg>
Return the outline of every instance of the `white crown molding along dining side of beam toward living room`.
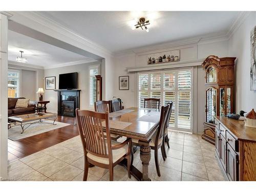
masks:
<svg viewBox="0 0 256 192"><path fill-rule="evenodd" d="M27 17L31 20L33 20L33 22L36 22L42 26L48 27L52 30L54 30L57 33L60 33L62 35L65 35L75 41L78 41L79 43L90 47L93 50L96 50L97 52L101 52L105 55L108 56L112 56L112 52L109 51L108 49L96 44L95 42L93 42L92 40L83 37L82 35L74 32L73 30L62 26L61 24L55 22L55 20L41 14L35 11L22 11L22 12L9 12L10 14L19 14L22 15L24 17Z"/></svg>

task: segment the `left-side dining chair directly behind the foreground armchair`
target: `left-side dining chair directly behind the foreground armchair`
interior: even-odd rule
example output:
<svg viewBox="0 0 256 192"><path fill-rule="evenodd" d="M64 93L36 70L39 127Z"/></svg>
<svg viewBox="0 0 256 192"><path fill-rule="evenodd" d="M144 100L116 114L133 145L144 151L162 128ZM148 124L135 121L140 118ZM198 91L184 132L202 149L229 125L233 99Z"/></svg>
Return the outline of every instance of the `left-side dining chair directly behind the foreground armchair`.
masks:
<svg viewBox="0 0 256 192"><path fill-rule="evenodd" d="M111 113L112 112L111 101L94 102L94 110L95 112L100 112L100 113L106 113L106 112ZM106 137L105 132L104 132L104 136ZM111 139L115 141L121 137L120 135L116 135L116 134L110 134L110 136L111 136Z"/></svg>

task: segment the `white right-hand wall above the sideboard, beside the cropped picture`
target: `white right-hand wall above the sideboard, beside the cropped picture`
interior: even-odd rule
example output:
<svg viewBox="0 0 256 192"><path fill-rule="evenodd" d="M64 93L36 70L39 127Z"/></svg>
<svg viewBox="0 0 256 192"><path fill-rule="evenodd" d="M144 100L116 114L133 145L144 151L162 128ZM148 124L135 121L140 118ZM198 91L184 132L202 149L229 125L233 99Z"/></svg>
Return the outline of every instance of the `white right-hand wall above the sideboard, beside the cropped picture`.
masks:
<svg viewBox="0 0 256 192"><path fill-rule="evenodd" d="M256 91L250 91L250 31L256 26L256 13L251 12L228 41L228 55L237 57L236 112L256 109Z"/></svg>

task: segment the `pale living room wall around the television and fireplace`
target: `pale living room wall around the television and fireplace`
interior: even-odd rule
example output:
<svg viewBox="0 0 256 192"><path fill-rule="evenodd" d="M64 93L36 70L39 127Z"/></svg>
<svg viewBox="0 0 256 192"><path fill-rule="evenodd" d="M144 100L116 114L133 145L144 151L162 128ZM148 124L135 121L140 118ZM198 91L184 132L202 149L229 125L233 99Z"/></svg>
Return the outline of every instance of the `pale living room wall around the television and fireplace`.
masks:
<svg viewBox="0 0 256 192"><path fill-rule="evenodd" d="M80 92L80 109L89 109L89 86L90 86L90 66L100 65L100 61L84 63L81 65L67 66L54 69L46 69L45 77L56 77L56 89L59 86L59 74L63 73L73 73L78 72L78 89ZM45 86L44 86L45 88ZM57 113L58 111L58 97L57 92L53 90L45 90L45 100L49 100L50 103L47 104L47 109L49 112Z"/></svg>

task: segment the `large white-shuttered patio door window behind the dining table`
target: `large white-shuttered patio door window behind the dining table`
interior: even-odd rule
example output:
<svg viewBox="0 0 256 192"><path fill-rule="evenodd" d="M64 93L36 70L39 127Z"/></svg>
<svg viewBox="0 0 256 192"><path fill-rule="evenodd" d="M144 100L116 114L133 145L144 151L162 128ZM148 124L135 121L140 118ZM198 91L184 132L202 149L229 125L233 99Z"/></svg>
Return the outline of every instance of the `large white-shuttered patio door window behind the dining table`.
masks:
<svg viewBox="0 0 256 192"><path fill-rule="evenodd" d="M160 98L160 104L164 105L173 101L169 126L181 131L191 130L191 69L139 73L138 88L140 108L148 97Z"/></svg>

